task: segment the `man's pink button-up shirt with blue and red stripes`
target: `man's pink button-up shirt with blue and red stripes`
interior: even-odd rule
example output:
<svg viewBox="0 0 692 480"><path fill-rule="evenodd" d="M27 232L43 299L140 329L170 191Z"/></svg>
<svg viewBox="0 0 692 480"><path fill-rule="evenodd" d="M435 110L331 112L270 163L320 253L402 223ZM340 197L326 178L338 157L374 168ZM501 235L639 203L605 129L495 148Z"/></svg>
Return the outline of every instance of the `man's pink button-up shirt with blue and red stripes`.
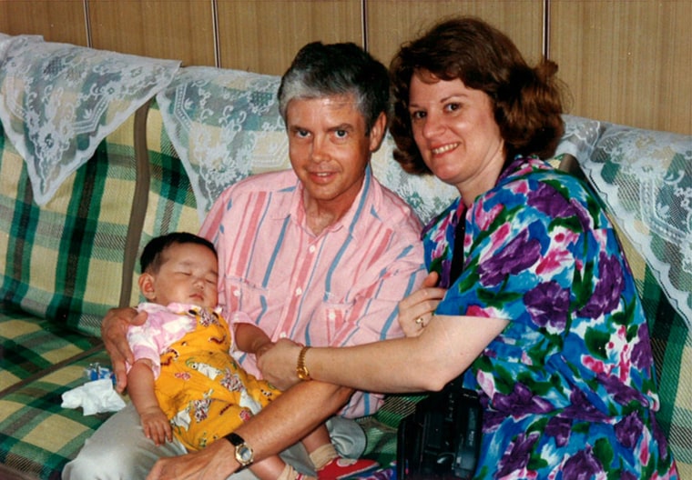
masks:
<svg viewBox="0 0 692 480"><path fill-rule="evenodd" d="M219 250L219 304L272 341L359 345L402 336L398 303L422 283L421 225L367 169L351 209L320 235L306 223L292 170L252 175L219 196L200 235ZM239 362L260 376L254 355ZM356 374L357 375L357 374ZM382 395L356 392L341 415L370 415Z"/></svg>

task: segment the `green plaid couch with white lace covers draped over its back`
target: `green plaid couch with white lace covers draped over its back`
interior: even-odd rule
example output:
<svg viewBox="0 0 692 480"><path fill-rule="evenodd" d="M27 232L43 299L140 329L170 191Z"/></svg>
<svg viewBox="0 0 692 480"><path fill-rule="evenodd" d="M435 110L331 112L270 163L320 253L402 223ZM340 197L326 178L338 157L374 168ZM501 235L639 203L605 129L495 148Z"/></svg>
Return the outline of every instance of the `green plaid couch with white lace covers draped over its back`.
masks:
<svg viewBox="0 0 692 480"><path fill-rule="evenodd" d="M139 80L124 87L126 73ZM278 82L0 35L1 478L59 478L111 415L64 408L62 395L107 369L99 323L139 301L141 247L196 232L227 185L290 166ZM692 136L565 125L555 162L594 187L621 230L655 351L657 419L692 478ZM403 173L392 148L388 136L371 168L427 221L453 189ZM390 395L360 419L367 455L390 465L420 398Z"/></svg>

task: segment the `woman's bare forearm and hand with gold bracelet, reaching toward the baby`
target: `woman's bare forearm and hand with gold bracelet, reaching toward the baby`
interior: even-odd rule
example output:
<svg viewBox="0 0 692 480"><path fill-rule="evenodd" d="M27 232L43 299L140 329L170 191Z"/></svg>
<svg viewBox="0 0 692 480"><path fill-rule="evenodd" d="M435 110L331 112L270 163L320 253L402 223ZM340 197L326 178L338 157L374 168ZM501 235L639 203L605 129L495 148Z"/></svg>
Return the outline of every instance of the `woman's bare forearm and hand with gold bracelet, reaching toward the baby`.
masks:
<svg viewBox="0 0 692 480"><path fill-rule="evenodd" d="M418 336L350 347L310 348L305 365L315 380L358 390L440 390L471 365L506 325L506 320L498 318L435 315ZM260 367L270 382L274 375L292 375L298 381L295 368L300 348L280 340L262 356Z"/></svg>

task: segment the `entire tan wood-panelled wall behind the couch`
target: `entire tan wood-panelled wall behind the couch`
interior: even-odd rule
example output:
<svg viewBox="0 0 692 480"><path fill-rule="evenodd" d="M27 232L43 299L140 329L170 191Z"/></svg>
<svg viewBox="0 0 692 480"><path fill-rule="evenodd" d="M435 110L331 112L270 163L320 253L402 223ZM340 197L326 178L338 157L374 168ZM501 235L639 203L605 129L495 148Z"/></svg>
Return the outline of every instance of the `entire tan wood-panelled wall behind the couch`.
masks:
<svg viewBox="0 0 692 480"><path fill-rule="evenodd" d="M547 49L569 113L692 134L690 0L0 0L0 32L280 75L314 40L355 42L388 64L457 14L504 30L532 63Z"/></svg>

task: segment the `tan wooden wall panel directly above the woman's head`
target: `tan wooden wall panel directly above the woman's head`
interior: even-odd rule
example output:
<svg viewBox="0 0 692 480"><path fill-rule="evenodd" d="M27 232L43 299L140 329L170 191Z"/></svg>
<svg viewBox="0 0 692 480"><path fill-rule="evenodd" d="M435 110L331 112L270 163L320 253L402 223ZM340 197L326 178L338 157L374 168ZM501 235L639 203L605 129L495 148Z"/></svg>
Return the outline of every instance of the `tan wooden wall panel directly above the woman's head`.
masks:
<svg viewBox="0 0 692 480"><path fill-rule="evenodd" d="M449 15L474 15L509 35L526 60L540 60L543 45L542 0L367 0L368 49L389 65L399 46Z"/></svg>

